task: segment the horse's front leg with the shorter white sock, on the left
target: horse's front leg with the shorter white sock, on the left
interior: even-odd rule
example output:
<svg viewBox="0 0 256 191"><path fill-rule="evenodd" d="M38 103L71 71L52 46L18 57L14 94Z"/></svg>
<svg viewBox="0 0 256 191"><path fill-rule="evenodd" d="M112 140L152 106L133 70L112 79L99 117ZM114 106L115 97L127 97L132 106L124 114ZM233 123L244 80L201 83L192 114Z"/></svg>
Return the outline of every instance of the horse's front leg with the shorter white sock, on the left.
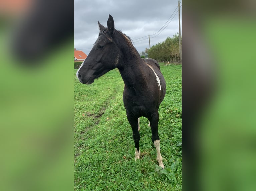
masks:
<svg viewBox="0 0 256 191"><path fill-rule="evenodd" d="M134 117L132 114L128 112L126 112L126 115L132 127L132 137L135 143L135 160L137 160L137 159L140 159L140 149L139 149L140 133L139 133L138 118Z"/></svg>

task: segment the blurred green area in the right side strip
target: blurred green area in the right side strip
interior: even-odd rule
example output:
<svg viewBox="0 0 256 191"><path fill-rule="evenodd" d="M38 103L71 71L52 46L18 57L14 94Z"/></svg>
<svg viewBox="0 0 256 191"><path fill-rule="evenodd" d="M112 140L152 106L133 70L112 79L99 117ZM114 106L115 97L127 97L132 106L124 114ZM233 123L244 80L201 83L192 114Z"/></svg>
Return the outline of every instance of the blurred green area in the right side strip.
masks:
<svg viewBox="0 0 256 191"><path fill-rule="evenodd" d="M203 190L255 190L256 23L244 15L224 16L204 25L216 84L200 116L199 179Z"/></svg>

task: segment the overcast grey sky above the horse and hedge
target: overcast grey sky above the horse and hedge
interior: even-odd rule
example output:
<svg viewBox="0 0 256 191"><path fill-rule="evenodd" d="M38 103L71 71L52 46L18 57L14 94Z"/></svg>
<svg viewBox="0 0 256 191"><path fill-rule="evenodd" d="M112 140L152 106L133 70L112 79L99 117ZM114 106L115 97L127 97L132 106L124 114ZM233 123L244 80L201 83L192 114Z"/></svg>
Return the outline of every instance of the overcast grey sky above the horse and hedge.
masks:
<svg viewBox="0 0 256 191"><path fill-rule="evenodd" d="M149 48L148 35L153 46L179 32L177 6L178 0L75 0L74 48L88 55L99 35L97 21L107 26L110 14L115 29L131 37L138 52L145 51ZM182 23L181 15L180 19Z"/></svg>

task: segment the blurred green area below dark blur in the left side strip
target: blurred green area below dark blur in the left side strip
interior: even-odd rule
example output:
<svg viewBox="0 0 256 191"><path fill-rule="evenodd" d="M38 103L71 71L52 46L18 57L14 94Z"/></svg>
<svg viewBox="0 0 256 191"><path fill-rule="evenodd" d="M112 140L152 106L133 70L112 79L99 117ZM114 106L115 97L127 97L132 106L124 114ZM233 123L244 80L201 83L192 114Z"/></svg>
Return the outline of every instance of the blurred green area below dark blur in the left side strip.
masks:
<svg viewBox="0 0 256 191"><path fill-rule="evenodd" d="M0 24L0 190L73 190L73 37L24 65L9 46L15 22Z"/></svg>

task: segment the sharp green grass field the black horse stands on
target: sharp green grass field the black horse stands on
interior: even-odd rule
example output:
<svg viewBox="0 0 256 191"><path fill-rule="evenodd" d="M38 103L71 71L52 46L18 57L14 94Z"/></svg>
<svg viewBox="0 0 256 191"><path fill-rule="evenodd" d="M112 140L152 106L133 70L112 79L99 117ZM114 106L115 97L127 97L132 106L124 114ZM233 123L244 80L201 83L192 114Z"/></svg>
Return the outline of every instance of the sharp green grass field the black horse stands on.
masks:
<svg viewBox="0 0 256 191"><path fill-rule="evenodd" d="M159 108L158 167L148 120L140 118L141 159L123 106L124 83L114 69L93 84L75 78L75 190L181 190L181 65L160 63L166 96ZM76 70L74 70L76 73Z"/></svg>

